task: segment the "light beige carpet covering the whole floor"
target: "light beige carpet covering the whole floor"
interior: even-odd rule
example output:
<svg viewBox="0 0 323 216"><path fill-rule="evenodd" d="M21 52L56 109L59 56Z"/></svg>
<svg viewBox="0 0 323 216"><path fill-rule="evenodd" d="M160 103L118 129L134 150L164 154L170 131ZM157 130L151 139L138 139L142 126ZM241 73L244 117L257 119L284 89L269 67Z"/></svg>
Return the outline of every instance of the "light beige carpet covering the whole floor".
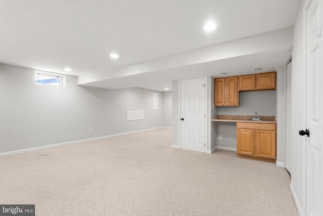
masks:
<svg viewBox="0 0 323 216"><path fill-rule="evenodd" d="M0 204L36 215L298 215L274 163L173 149L171 129L0 158Z"/></svg>

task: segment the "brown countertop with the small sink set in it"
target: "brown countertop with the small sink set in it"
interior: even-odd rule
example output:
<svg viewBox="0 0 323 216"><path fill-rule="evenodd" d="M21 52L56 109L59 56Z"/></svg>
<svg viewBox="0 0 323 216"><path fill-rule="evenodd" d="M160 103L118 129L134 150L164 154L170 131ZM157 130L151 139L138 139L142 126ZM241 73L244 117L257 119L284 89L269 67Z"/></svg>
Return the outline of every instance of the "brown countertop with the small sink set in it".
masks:
<svg viewBox="0 0 323 216"><path fill-rule="evenodd" d="M252 121L248 119L252 119L255 117L254 115L218 115L216 119L211 119L211 121L227 121L227 122L247 122L247 123L269 123L269 124L277 124L275 120L275 116L266 116L259 115L257 117L260 118L261 121Z"/></svg>

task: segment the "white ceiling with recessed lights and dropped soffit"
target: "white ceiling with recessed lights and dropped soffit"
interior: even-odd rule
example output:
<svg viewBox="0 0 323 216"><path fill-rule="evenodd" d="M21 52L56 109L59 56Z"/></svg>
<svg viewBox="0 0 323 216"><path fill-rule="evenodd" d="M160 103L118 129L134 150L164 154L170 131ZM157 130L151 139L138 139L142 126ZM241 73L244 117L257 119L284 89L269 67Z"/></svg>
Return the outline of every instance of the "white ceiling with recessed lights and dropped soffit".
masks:
<svg viewBox="0 0 323 216"><path fill-rule="evenodd" d="M78 76L79 84L93 87L158 91L170 91L176 79L272 71L286 64L292 49L292 29L274 30L293 25L300 2L0 0L0 62ZM217 28L205 32L210 20ZM261 39L276 33L273 41ZM239 38L255 44L243 53ZM257 39L277 44L257 50ZM207 58L226 47L230 55ZM114 52L119 59L110 58Z"/></svg>

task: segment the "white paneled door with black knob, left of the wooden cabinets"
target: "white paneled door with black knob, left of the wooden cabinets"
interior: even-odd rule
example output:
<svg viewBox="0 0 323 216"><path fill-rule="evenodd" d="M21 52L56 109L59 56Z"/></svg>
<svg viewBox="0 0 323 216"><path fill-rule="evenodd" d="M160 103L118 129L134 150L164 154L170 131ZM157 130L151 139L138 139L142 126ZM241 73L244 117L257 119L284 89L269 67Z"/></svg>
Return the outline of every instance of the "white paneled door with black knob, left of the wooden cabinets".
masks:
<svg viewBox="0 0 323 216"><path fill-rule="evenodd" d="M181 148L205 151L205 78L181 80Z"/></svg>

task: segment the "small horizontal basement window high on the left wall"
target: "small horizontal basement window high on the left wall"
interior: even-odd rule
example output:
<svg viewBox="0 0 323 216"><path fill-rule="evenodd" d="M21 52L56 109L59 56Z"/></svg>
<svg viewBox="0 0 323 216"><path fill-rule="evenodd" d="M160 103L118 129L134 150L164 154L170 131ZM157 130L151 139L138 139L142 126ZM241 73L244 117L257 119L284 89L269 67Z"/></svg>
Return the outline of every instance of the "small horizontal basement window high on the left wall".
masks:
<svg viewBox="0 0 323 216"><path fill-rule="evenodd" d="M65 87L65 76L36 71L35 83L42 85L58 85L61 87Z"/></svg>

